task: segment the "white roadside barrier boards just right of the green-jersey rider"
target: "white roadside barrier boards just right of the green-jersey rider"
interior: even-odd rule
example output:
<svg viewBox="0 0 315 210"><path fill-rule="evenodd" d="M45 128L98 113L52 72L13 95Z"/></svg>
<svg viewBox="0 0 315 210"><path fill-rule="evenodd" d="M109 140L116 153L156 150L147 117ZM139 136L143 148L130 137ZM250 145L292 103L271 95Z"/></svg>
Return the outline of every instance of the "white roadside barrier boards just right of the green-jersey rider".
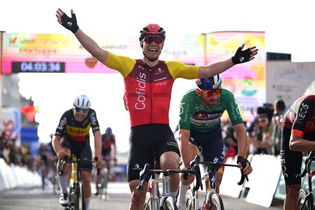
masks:
<svg viewBox="0 0 315 210"><path fill-rule="evenodd" d="M228 164L236 164L237 157L226 158ZM281 173L280 157L274 155L249 155L253 172L248 176L248 182L238 186L239 173L237 168L225 167L220 194L229 197L239 197L246 202L270 207L274 198L284 200L284 181ZM283 188L283 189L282 189Z"/></svg>

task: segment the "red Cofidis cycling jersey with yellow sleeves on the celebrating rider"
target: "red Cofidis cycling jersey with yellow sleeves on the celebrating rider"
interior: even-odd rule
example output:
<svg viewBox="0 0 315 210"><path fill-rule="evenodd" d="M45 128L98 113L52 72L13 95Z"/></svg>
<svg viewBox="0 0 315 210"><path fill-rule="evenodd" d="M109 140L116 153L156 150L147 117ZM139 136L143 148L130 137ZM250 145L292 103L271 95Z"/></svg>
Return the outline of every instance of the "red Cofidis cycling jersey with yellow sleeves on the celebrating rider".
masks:
<svg viewBox="0 0 315 210"><path fill-rule="evenodd" d="M174 80L197 78L199 70L199 66L177 61L159 61L155 66L148 66L142 59L118 56L111 52L104 64L119 71L124 78L124 102L130 112L132 127L151 123L169 124Z"/></svg>

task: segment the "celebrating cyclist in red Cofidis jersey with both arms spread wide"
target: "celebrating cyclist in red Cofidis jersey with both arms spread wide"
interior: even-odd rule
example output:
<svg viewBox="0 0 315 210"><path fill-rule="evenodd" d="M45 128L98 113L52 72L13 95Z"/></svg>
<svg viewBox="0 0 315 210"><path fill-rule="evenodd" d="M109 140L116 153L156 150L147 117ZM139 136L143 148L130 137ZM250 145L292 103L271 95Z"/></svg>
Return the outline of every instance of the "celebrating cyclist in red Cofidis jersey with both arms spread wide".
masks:
<svg viewBox="0 0 315 210"><path fill-rule="evenodd" d="M157 24L149 24L140 31L139 43L142 59L132 59L104 50L87 36L77 25L76 15L71 10L69 18L61 9L57 10L57 21L78 38L93 57L111 69L119 71L125 81L125 107L130 112L130 156L128 181L132 199L130 209L143 209L146 197L144 190L137 190L139 172L146 163L155 160L161 169L179 168L179 147L169 127L169 104L172 85L176 78L207 78L221 73L235 64L248 62L258 54L255 47L242 50L221 62L207 66L189 66L183 62L160 61L164 47L165 30ZM171 176L171 194L175 197L179 188L179 175Z"/></svg>

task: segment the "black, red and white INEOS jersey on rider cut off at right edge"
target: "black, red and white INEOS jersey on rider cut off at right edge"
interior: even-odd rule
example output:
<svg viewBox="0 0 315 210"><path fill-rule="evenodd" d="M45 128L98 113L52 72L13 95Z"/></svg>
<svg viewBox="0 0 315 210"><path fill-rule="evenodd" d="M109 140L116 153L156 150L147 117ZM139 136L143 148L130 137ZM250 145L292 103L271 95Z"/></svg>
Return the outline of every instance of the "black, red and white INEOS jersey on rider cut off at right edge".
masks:
<svg viewBox="0 0 315 210"><path fill-rule="evenodd" d="M283 126L291 129L291 135L310 139L315 134L315 94L300 97L283 116Z"/></svg>

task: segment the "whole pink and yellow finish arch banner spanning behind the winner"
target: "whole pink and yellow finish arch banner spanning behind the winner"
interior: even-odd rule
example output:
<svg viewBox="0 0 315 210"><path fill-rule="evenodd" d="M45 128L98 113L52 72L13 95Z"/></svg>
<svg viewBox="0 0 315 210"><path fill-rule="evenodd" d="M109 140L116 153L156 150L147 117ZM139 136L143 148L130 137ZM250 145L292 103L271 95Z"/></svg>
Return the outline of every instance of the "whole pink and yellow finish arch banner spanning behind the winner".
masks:
<svg viewBox="0 0 315 210"><path fill-rule="evenodd" d="M142 57L137 34L91 36L101 48L134 59ZM251 62L222 73L223 87L235 94L244 120L253 120L255 108L266 102L265 33L220 31L200 36L167 36L160 59L205 65L234 55L237 48L256 46ZM117 73L83 48L73 34L3 34L2 73Z"/></svg>

